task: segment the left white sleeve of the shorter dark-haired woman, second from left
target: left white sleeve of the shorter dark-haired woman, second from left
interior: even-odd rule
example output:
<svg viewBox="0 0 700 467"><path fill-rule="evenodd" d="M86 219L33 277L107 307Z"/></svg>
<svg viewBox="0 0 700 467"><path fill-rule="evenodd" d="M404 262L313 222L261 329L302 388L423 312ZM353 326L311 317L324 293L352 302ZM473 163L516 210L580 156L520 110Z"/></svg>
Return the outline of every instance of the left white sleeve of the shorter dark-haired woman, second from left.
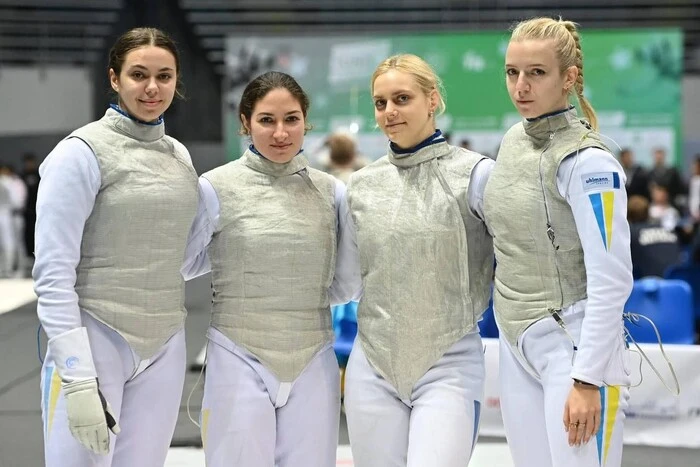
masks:
<svg viewBox="0 0 700 467"><path fill-rule="evenodd" d="M180 269L188 281L211 271L207 248L219 224L219 197L209 180L199 177L199 204L197 215L190 228L185 261Z"/></svg>

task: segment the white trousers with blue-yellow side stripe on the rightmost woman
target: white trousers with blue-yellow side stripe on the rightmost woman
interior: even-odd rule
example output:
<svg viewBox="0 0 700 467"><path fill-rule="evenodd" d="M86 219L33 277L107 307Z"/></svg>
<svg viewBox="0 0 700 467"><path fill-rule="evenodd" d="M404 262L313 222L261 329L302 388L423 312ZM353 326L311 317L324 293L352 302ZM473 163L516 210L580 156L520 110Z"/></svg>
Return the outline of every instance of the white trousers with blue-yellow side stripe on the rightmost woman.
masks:
<svg viewBox="0 0 700 467"><path fill-rule="evenodd" d="M583 312L565 315L564 321L579 342ZM597 436L580 447L569 446L563 420L573 386L571 339L554 318L545 318L523 333L519 347L522 357L500 340L501 413L515 467L619 467L629 389L601 388Z"/></svg>

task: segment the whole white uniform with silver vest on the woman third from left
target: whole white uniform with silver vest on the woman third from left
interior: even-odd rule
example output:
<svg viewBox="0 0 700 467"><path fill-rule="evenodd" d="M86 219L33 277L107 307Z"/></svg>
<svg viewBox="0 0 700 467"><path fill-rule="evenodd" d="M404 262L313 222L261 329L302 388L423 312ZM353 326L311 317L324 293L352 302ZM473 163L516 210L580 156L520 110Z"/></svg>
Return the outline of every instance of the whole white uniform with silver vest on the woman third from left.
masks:
<svg viewBox="0 0 700 467"><path fill-rule="evenodd" d="M481 199L493 161L438 130L356 172L348 203L361 261L345 408L357 467L464 467L484 356L476 327L493 250Z"/></svg>

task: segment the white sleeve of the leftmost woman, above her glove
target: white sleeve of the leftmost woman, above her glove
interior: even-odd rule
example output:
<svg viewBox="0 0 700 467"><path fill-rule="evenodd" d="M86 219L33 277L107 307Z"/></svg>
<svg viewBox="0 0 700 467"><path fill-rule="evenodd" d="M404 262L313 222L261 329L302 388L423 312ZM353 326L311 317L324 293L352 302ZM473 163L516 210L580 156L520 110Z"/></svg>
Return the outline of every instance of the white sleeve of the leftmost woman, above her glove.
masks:
<svg viewBox="0 0 700 467"><path fill-rule="evenodd" d="M78 138L58 143L39 167L39 174L32 275L39 297L37 314L50 339L82 326L76 268L101 175L97 158Z"/></svg>

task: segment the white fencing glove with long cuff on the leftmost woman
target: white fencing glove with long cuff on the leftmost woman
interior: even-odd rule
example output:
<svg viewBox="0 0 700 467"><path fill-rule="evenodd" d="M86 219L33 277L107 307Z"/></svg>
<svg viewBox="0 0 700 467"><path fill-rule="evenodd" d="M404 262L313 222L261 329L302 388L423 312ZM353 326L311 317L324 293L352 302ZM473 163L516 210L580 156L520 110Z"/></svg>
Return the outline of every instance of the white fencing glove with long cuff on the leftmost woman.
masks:
<svg viewBox="0 0 700 467"><path fill-rule="evenodd" d="M112 407L98 389L87 329L75 328L52 337L48 346L61 377L71 434L91 451L109 453L109 430L115 435L120 430Z"/></svg>

